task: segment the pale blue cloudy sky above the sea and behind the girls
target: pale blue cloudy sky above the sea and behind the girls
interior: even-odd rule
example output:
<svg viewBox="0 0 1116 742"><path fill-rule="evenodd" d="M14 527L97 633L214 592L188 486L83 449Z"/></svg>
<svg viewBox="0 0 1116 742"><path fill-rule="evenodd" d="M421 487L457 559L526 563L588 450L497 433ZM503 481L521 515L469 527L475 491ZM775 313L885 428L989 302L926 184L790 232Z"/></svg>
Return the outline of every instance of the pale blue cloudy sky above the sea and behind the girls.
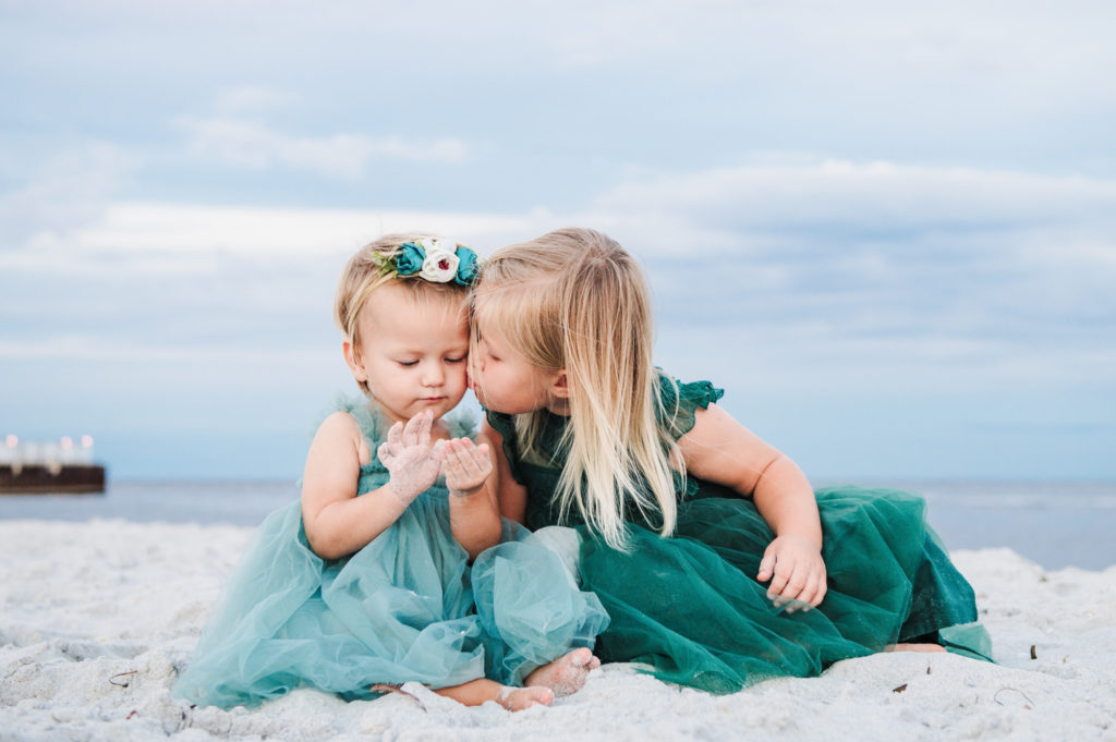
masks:
<svg viewBox="0 0 1116 742"><path fill-rule="evenodd" d="M296 479L381 234L566 225L815 481L1116 479L1116 6L0 0L0 435ZM474 403L473 403L474 404Z"/></svg>

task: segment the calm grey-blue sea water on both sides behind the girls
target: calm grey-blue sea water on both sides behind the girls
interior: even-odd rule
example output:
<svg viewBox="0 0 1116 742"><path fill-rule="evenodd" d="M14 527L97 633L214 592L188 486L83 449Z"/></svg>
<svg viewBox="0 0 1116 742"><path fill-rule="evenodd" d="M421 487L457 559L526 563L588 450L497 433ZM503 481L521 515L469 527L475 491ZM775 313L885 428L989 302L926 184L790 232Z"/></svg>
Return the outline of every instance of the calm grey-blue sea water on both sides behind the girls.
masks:
<svg viewBox="0 0 1116 742"><path fill-rule="evenodd" d="M950 549L1007 547L1047 569L1116 565L1116 482L857 483L921 493L930 523ZM0 519L256 526L298 494L292 481L110 480L104 494L0 495Z"/></svg>

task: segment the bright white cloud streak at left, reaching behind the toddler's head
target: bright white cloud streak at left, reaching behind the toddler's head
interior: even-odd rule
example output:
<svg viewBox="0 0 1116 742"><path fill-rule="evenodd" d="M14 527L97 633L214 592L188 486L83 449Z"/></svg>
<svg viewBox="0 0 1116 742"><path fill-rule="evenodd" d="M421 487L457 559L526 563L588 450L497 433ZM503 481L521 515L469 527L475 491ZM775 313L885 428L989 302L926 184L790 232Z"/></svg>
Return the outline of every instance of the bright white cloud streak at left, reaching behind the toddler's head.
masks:
<svg viewBox="0 0 1116 742"><path fill-rule="evenodd" d="M54 277L190 277L240 264L297 276L334 264L382 234L427 230L493 247L556 224L545 211L523 214L419 210L280 209L116 202L81 224L41 230L20 250L0 253L0 271ZM339 262L337 268L339 269Z"/></svg>

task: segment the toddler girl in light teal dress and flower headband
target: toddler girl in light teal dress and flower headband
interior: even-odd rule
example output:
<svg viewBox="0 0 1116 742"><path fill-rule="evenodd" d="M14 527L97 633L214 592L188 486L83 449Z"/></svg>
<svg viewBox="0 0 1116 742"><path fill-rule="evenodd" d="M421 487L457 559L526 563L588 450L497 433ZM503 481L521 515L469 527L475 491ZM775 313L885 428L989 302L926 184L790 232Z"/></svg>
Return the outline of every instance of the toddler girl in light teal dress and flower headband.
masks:
<svg viewBox="0 0 1116 742"><path fill-rule="evenodd" d="M175 695L231 707L417 681L519 710L599 666L599 601L500 518L489 445L446 415L465 392L475 272L472 250L423 234L349 260L335 318L366 396L321 423L300 502L260 527Z"/></svg>

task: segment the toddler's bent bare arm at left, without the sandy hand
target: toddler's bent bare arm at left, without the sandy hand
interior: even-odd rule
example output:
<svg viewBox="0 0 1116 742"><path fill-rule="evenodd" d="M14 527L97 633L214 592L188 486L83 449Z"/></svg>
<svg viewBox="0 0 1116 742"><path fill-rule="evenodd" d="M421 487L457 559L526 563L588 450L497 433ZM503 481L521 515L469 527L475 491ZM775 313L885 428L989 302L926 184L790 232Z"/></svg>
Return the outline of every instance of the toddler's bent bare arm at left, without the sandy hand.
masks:
<svg viewBox="0 0 1116 742"><path fill-rule="evenodd" d="M302 523L316 555L354 553L394 523L406 505L384 485L356 497L371 452L352 415L337 412L318 427L302 474Z"/></svg>

